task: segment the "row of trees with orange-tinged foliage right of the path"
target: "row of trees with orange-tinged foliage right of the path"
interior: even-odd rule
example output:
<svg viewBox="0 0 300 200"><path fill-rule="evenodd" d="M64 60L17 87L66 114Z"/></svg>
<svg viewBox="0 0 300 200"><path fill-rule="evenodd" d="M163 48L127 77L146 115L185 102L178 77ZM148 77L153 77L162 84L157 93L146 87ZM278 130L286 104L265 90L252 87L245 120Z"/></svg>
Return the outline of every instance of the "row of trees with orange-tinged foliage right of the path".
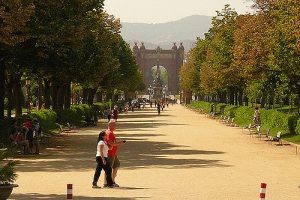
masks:
<svg viewBox="0 0 300 200"><path fill-rule="evenodd" d="M181 69L181 87L242 105L299 105L300 1L254 0L254 13L226 5Z"/></svg>

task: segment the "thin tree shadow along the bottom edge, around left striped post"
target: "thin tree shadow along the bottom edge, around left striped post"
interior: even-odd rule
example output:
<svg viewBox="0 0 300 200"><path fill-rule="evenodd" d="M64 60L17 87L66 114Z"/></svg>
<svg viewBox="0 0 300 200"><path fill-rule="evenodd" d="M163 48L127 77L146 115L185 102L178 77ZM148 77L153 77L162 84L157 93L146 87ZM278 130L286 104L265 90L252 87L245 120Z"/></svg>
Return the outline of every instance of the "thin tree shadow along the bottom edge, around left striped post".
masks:
<svg viewBox="0 0 300 200"><path fill-rule="evenodd" d="M93 199L101 199L101 200L136 200L136 199L148 199L151 197L86 197L86 196L74 196L74 199L79 200L93 200ZM29 193L29 194L12 194L10 199L14 200L28 200L28 199L55 199L62 200L66 199L66 195L57 195L57 194L38 194L38 193Z"/></svg>

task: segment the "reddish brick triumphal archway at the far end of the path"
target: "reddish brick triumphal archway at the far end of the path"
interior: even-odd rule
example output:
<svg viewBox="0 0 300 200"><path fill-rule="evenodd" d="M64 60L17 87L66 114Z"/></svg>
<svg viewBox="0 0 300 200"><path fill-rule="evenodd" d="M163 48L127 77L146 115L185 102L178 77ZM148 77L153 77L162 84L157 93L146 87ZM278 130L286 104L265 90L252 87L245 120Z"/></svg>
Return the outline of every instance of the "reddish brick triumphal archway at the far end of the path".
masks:
<svg viewBox="0 0 300 200"><path fill-rule="evenodd" d="M179 93L179 71L184 60L184 47L182 43L180 43L178 48L176 43L174 43L172 49L169 50L163 50L160 47L146 49L143 43L140 47L135 43L133 53L143 73L146 87L149 87L153 81L151 76L152 67L159 65L168 71L169 93Z"/></svg>

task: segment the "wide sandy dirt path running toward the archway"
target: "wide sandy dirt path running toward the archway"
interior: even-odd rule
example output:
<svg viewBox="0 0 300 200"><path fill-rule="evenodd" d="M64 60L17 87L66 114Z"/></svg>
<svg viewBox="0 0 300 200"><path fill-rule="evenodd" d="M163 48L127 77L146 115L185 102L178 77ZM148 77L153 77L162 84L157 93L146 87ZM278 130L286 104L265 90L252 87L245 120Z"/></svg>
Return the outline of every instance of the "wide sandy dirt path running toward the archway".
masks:
<svg viewBox="0 0 300 200"><path fill-rule="evenodd" d="M258 199L261 182L268 200L300 198L300 155L270 145L182 106L157 116L147 108L121 116L117 137L122 168L118 189L92 189L97 128L61 137L39 157L21 160L19 188L12 199ZM100 185L102 185L102 180ZM100 198L99 198L100 197Z"/></svg>

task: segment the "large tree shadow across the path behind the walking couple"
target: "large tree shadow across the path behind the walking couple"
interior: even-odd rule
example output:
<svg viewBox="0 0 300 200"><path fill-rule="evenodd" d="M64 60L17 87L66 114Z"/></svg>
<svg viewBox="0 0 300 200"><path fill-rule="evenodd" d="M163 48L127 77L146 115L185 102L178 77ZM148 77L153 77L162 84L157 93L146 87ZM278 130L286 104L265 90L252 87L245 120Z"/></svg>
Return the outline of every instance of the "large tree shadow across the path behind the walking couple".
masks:
<svg viewBox="0 0 300 200"><path fill-rule="evenodd" d="M139 116L142 118L143 116ZM130 115L128 116L130 117ZM120 120L117 125L118 140L128 142L120 147L121 167L129 170L139 168L207 168L229 167L222 160L209 159L209 155L224 154L220 151L194 150L188 146L169 142L151 141L153 137L164 134L155 133L161 126L184 126L186 124L129 123ZM102 127L102 125L101 125ZM94 170L97 133L101 128L82 129L70 137L57 137L39 156L26 156L20 159L18 171L21 172L71 172ZM140 131L137 133L133 131ZM152 131L151 134L145 133ZM192 158L191 158L192 156Z"/></svg>

